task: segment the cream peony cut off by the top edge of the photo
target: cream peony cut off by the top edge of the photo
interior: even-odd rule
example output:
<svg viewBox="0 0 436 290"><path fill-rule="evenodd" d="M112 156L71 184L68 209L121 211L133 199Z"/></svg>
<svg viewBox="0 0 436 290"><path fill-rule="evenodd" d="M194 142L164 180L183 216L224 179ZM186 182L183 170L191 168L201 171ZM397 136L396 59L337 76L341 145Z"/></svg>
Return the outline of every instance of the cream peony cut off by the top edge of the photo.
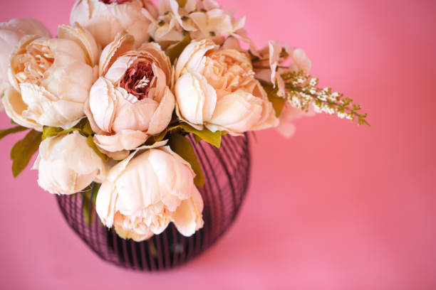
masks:
<svg viewBox="0 0 436 290"><path fill-rule="evenodd" d="M148 0L78 0L71 11L70 23L79 23L94 36L103 48L122 31L135 37L136 46L149 39L147 14L157 11Z"/></svg>

